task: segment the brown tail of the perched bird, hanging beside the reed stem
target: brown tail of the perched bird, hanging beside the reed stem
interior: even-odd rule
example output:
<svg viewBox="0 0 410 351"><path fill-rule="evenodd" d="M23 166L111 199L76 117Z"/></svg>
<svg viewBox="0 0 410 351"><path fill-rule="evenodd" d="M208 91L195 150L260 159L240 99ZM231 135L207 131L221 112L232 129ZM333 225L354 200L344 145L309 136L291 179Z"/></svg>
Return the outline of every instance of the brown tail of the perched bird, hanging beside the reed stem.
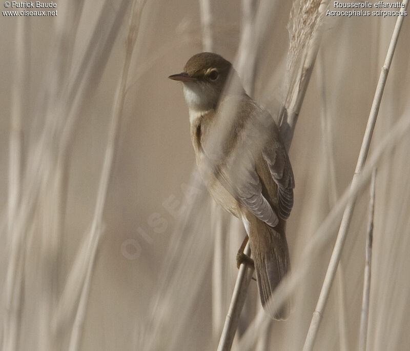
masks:
<svg viewBox="0 0 410 351"><path fill-rule="evenodd" d="M288 243L285 236L285 222L280 221L275 228L257 220L250 232L250 246L255 262L256 282L263 308L273 319L287 319L290 301L279 309L270 303L273 291L290 269Z"/></svg>

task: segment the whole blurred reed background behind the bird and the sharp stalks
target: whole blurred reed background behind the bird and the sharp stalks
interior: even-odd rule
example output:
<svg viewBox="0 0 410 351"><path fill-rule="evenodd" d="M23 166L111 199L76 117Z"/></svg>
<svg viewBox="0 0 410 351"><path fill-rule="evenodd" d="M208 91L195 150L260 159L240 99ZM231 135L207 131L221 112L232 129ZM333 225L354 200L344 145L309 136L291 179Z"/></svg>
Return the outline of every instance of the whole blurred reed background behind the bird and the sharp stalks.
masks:
<svg viewBox="0 0 410 351"><path fill-rule="evenodd" d="M203 189L182 89L167 77L212 50L276 117L292 4L270 3L78 0L59 1L55 17L2 17L4 350L216 349L244 231ZM293 271L308 269L289 320L255 334L251 349L303 346L341 213L302 253L350 186L395 22L324 18L290 149L287 237ZM405 17L369 154L393 138L377 162L367 350L410 345L410 138L391 132L410 118L409 32ZM368 203L366 182L315 350L358 347ZM251 282L233 349L245 349L256 294Z"/></svg>

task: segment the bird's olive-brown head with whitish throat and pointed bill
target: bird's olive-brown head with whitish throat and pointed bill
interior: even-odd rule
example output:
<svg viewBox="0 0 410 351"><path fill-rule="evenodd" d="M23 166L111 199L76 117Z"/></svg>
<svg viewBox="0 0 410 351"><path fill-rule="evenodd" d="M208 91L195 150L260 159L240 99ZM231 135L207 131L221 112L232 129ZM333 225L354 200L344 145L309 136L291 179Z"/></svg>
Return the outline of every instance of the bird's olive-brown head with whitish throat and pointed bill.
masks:
<svg viewBox="0 0 410 351"><path fill-rule="evenodd" d="M201 52L188 60L183 72L169 76L182 82L185 100L190 110L201 112L215 108L230 72L237 77L232 64L212 52Z"/></svg>

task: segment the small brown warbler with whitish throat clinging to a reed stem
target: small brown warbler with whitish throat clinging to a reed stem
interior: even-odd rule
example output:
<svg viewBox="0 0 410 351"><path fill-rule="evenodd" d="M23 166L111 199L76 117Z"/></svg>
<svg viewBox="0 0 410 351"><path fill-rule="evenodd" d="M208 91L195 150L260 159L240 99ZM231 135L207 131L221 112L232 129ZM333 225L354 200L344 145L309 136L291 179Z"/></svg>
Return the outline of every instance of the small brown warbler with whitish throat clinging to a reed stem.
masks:
<svg viewBox="0 0 410 351"><path fill-rule="evenodd" d="M220 55L196 54L182 73L169 78L182 82L204 183L214 200L240 218L247 230L262 305L272 318L285 319L289 302L276 313L267 303L290 268L285 225L295 183L279 130ZM252 264L250 258L245 261Z"/></svg>

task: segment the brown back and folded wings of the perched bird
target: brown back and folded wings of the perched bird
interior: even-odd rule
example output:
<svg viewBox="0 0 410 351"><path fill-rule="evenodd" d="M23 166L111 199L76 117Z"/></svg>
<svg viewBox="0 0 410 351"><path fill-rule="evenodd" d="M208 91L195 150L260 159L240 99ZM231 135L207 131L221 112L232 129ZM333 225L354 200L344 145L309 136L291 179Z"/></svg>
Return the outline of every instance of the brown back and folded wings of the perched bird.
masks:
<svg viewBox="0 0 410 351"><path fill-rule="evenodd" d="M241 96L240 99L230 97L224 101L224 108L230 110L238 104L233 118L240 121L236 126L241 127L228 132L235 147L218 141L208 145L209 149L205 146L207 150L203 151L212 173L222 186L258 219L274 227L279 222L278 216L288 219L293 206L294 179L288 153L281 142L276 124L267 111L261 109L249 96ZM217 120L213 122L214 130L224 130L222 127L225 127L226 122L219 120L221 114L224 118L227 116L225 113L218 114ZM220 148L218 152L216 145L223 148L223 152ZM219 155L223 155L223 159ZM255 159L267 163L267 174L270 173L277 184L278 213L273 208L276 203L271 198L273 194L263 193Z"/></svg>

